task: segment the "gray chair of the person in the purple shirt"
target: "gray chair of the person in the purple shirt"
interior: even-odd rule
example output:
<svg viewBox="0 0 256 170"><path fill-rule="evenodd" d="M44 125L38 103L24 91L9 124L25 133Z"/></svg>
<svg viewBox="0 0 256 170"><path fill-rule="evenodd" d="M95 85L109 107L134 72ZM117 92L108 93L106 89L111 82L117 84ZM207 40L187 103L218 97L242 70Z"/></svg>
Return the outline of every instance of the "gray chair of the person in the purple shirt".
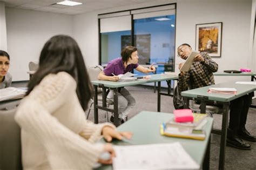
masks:
<svg viewBox="0 0 256 170"><path fill-rule="evenodd" d="M98 80L98 75L103 70L104 70L103 66L101 66L101 65L90 66L89 69L88 69L88 73L89 73L90 79L92 81L93 80ZM101 88L98 88L97 91L98 91L98 94L102 93L102 89ZM98 102L102 102L102 95L98 96ZM110 105L113 105L113 101L109 100L109 99L106 99L106 103L107 103L107 107L109 107ZM91 111L91 108L92 108L93 104L94 104L94 101L93 101L93 99L91 99L91 104L90 104L89 111L87 113L86 119L89 118L90 111ZM106 112L105 117L107 118L107 121L109 121L109 112Z"/></svg>

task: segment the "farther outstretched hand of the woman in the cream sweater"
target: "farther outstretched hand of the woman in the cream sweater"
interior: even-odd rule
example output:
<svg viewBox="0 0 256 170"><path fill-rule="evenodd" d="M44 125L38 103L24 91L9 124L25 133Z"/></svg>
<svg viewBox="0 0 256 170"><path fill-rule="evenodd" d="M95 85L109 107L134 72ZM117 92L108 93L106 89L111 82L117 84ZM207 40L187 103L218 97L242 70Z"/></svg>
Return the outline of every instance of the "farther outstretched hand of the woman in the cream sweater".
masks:
<svg viewBox="0 0 256 170"><path fill-rule="evenodd" d="M113 138L122 140L123 138L131 139L131 132L118 132L110 126L104 126L102 128L102 135L107 142L111 142Z"/></svg>

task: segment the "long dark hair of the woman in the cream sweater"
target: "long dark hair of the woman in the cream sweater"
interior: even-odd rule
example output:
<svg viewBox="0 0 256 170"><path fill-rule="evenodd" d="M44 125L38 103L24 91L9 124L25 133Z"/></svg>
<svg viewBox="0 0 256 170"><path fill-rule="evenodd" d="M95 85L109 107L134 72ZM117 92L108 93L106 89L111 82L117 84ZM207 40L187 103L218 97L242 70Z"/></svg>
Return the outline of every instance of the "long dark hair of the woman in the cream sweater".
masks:
<svg viewBox="0 0 256 170"><path fill-rule="evenodd" d="M82 52L75 39L70 36L57 35L50 38L41 51L39 68L28 85L28 95L41 80L50 73L69 73L77 83L76 93L85 111L92 97L92 85L87 73Z"/></svg>

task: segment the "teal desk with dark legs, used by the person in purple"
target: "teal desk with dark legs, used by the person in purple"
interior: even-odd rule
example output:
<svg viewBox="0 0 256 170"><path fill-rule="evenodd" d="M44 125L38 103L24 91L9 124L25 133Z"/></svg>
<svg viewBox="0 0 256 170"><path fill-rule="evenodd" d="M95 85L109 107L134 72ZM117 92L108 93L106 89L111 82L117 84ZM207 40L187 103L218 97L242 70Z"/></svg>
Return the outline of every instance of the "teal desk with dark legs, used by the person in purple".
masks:
<svg viewBox="0 0 256 170"><path fill-rule="evenodd" d="M167 93L162 93L160 92L161 90L161 81L170 81L171 80L177 80L178 76L163 76L161 74L152 74L151 78L148 80L144 80L144 79L138 79L138 80L133 80L133 81L106 81L106 80L94 80L91 81L94 90L95 90L95 96L94 96L94 117L95 117L95 123L98 123L98 108L105 110L105 111L109 111L109 112L113 112L114 113L114 125L118 126L118 97L117 97L117 93L118 93L118 88L119 87L125 87L125 86L133 86L133 85L140 85L140 84L145 84L145 83L152 83L152 82L158 82L158 87L157 87L157 111L160 112L160 95L164 95L164 96L173 96L172 94L170 94L170 88L168 88L168 92ZM169 85L170 86L170 85ZM98 105L98 90L97 87L100 87L103 89L102 92L102 98L103 98L103 105L99 106ZM110 89L114 91L114 109L110 109L106 107L106 89Z"/></svg>

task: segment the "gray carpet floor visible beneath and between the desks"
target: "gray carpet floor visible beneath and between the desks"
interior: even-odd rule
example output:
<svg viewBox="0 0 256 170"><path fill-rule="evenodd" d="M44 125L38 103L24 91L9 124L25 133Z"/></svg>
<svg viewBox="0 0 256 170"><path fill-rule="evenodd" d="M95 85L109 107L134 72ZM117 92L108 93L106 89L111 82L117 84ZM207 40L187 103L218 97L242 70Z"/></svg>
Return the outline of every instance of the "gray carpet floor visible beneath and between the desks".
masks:
<svg viewBox="0 0 256 170"><path fill-rule="evenodd" d="M129 114L129 118L140 111L157 111L157 93L153 93L152 89L143 87L127 87L133 97L136 99L136 106ZM253 100L256 105L256 99ZM174 107L172 98L161 96L161 112L172 113ZM105 111L99 110L99 123L106 121ZM109 113L110 117L111 113ZM221 128L221 115L214 114L214 128ZM93 110L90 113L89 119L93 119ZM256 108L250 108L246 123L246 128L251 134L256 135ZM240 149L226 147L225 169L256 169L256 142L248 142L252 149L251 151L242 151ZM211 153L210 153L210 169L218 169L219 164L219 146L220 135L212 135Z"/></svg>

